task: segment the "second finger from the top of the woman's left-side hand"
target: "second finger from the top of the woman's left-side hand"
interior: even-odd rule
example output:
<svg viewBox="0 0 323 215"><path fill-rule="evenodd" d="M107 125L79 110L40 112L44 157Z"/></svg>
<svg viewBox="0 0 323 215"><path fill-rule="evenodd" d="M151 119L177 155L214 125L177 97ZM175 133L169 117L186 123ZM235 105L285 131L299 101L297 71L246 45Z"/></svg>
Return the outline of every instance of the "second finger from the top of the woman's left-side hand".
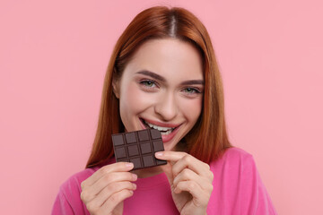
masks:
<svg viewBox="0 0 323 215"><path fill-rule="evenodd" d="M81 198L84 201L91 201L95 196L101 192L106 186L113 184L115 182L121 181L135 181L137 176L130 172L111 172L108 175L102 176L95 184L92 186L85 187L81 193Z"/></svg>

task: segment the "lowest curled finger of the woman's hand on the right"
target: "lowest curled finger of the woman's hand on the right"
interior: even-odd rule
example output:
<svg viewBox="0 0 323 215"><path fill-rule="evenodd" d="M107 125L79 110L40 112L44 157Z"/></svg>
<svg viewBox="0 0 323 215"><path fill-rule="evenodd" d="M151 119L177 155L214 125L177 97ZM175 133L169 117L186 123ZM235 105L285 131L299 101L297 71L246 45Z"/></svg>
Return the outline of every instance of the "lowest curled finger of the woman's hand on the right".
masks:
<svg viewBox="0 0 323 215"><path fill-rule="evenodd" d="M175 187L174 193L181 193L182 191L187 191L193 196L193 203L196 207L201 207L207 205L210 198L210 193L203 191L203 189L196 184L195 181L181 181Z"/></svg>

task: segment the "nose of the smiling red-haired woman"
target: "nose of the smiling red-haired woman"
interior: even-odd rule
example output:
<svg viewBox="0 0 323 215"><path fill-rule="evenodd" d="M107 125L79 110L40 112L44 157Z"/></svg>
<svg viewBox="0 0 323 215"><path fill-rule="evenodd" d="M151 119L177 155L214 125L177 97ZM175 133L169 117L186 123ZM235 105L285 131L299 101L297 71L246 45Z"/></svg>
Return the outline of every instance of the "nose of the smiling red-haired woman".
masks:
<svg viewBox="0 0 323 215"><path fill-rule="evenodd" d="M154 110L158 116L161 116L163 121L172 120L179 113L175 96L172 93L163 93L163 95L158 98Z"/></svg>

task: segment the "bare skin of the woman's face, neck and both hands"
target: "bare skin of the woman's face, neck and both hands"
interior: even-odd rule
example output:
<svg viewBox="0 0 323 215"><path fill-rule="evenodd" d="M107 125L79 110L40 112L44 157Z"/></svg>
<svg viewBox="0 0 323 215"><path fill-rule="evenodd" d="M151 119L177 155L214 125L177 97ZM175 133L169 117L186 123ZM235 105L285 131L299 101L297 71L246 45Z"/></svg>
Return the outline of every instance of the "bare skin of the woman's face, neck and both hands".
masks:
<svg viewBox="0 0 323 215"><path fill-rule="evenodd" d="M121 78L113 81L114 93L127 132L145 129L143 120L175 128L162 135L165 151L155 154L168 164L132 172L131 163L100 168L81 184L81 199L91 214L122 214L123 201L133 195L136 178L162 172L169 179L180 214L206 214L213 190L210 167L188 153L176 151L176 145L201 114L203 82L201 56L187 42L151 39L138 48Z"/></svg>

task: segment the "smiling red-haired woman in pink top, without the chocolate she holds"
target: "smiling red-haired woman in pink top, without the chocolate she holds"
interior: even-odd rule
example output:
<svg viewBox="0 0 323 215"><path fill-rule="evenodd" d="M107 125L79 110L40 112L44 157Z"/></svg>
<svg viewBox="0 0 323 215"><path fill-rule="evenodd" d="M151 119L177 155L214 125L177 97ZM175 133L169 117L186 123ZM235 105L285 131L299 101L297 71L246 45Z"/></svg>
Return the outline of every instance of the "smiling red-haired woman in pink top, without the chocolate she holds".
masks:
<svg viewBox="0 0 323 215"><path fill-rule="evenodd" d="M115 163L111 134L162 132L165 166ZM182 8L139 13L106 73L86 169L61 186L53 214L275 214L252 156L228 141L211 39Z"/></svg>

